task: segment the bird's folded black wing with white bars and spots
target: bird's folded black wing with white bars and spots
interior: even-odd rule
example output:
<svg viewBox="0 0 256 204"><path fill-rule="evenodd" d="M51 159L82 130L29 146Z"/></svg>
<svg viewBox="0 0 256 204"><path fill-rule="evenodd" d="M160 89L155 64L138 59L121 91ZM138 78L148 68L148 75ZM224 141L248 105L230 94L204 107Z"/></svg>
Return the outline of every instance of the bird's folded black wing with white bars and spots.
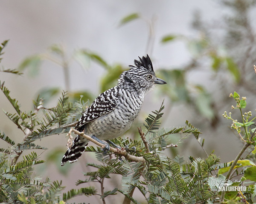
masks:
<svg viewBox="0 0 256 204"><path fill-rule="evenodd" d="M117 87L113 87L102 94L100 94L89 108L83 113L78 123L76 124L76 130L83 131L84 125L91 122L100 116L103 116L113 111L118 105L118 90Z"/></svg>

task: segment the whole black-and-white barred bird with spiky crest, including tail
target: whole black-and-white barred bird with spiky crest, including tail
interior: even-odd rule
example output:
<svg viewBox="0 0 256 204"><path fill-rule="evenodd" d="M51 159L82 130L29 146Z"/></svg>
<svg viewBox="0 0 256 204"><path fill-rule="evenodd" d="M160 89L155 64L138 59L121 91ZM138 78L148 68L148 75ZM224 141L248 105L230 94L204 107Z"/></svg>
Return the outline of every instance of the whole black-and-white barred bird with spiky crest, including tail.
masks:
<svg viewBox="0 0 256 204"><path fill-rule="evenodd" d="M131 127L140 112L145 94L154 84L166 84L156 77L148 55L139 59L134 60L135 66L130 65L128 71L122 72L117 86L100 94L87 108L79 119L76 130L84 131L88 136L102 142L101 140L108 141L121 136ZM65 153L61 166L67 161L77 161L87 144L87 139L76 136Z"/></svg>

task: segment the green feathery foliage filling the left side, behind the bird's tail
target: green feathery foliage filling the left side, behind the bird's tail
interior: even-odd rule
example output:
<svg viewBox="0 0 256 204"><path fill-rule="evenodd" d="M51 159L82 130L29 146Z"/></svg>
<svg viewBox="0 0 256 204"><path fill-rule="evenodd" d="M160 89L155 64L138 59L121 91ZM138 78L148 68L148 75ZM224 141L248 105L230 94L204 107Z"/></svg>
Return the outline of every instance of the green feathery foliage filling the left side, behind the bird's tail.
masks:
<svg viewBox="0 0 256 204"><path fill-rule="evenodd" d="M0 55L8 41L0 46ZM2 59L2 58L1 58ZM0 59L0 62L1 62ZM4 69L3 72L21 74L19 71ZM15 143L13 137L0 132L1 144L6 143L9 148L0 147L0 203L8 204L56 204L63 203L78 195L93 195L96 190L93 187L70 190L63 193L64 187L61 182L51 182L49 178L45 181L35 176L34 166L44 163L37 153L25 154L25 150L46 150L35 142L46 136L65 133L69 127L63 127L78 119L79 113L84 110L84 104L69 102L67 92L63 91L56 106L45 108L43 99L37 98L34 110L22 111L18 100L13 98L9 89L0 82L0 90L14 108L14 113L6 112L14 125L21 130L20 136L23 142ZM40 114L38 114L40 113ZM23 156L21 158L21 156ZM17 160L19 158L19 160Z"/></svg>

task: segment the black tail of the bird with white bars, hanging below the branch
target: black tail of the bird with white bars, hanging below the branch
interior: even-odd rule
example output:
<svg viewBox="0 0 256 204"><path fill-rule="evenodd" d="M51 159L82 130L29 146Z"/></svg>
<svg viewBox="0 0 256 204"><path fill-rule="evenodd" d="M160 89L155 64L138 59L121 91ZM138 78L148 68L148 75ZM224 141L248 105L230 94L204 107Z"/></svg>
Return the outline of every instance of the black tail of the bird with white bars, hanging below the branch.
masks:
<svg viewBox="0 0 256 204"><path fill-rule="evenodd" d="M85 150L87 144L88 141L86 139L81 138L79 135L76 136L72 146L68 148L67 152L64 154L61 161L61 166L63 166L67 161L70 163L77 161Z"/></svg>

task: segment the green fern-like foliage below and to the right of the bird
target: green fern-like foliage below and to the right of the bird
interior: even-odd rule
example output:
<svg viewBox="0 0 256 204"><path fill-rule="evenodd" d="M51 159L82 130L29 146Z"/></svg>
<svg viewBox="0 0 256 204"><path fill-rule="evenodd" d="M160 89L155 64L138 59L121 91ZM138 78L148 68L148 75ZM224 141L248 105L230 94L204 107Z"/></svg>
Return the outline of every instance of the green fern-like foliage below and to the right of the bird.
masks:
<svg viewBox="0 0 256 204"><path fill-rule="evenodd" d="M163 105L160 110L162 107ZM155 113L157 115L160 111L155 111ZM152 121L151 124L157 120ZM103 178L111 179L112 174L119 174L122 175L122 188L108 189L101 194L101 198L119 192L134 203L140 203L130 195L132 190L137 188L149 204L196 204L214 200L218 192L209 190L208 178L218 165L219 159L215 155L210 155L206 159L192 159L185 163L183 157L180 156L174 159L169 158L163 150L169 145L167 137L170 134L198 136L200 130L189 122L186 122L183 127L175 127L172 130L155 129L147 136L150 139L149 144L152 150L150 153L146 153L142 141L113 139L113 142L123 147L136 146L137 150L134 155L143 156L146 160L145 164L129 162L125 159L120 161L118 156L113 158L111 155L103 155L100 148L89 146L86 151L94 152L102 164L88 164L96 170L85 173L86 179L77 181L77 185L90 182L101 183Z"/></svg>

